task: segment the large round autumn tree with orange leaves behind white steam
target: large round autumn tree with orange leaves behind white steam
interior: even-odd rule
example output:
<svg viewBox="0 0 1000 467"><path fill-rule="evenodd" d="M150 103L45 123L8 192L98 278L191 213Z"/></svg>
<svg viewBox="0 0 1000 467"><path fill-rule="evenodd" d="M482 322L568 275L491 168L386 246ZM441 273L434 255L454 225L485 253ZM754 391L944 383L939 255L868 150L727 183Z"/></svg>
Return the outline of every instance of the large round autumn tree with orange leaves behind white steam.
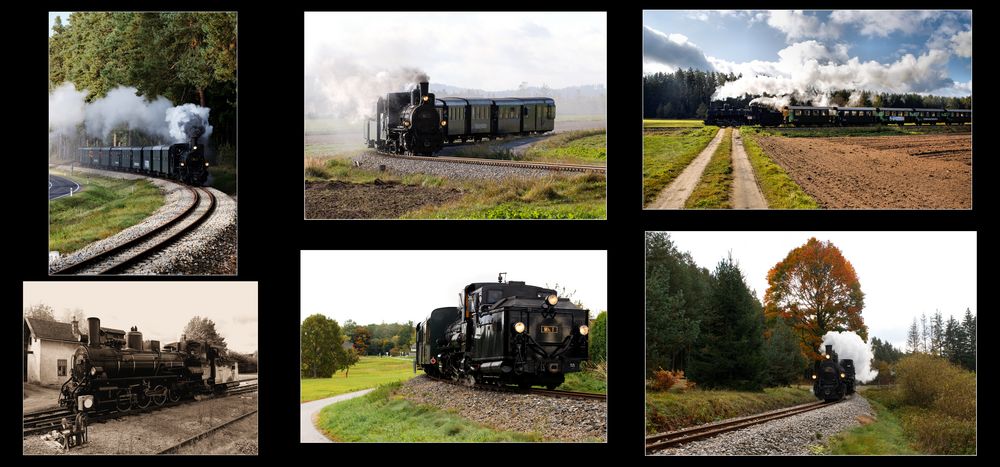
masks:
<svg viewBox="0 0 1000 467"><path fill-rule="evenodd" d="M819 360L823 335L854 331L865 341L865 294L851 262L833 243L810 238L767 273L764 315L783 319L799 338L802 354Z"/></svg>

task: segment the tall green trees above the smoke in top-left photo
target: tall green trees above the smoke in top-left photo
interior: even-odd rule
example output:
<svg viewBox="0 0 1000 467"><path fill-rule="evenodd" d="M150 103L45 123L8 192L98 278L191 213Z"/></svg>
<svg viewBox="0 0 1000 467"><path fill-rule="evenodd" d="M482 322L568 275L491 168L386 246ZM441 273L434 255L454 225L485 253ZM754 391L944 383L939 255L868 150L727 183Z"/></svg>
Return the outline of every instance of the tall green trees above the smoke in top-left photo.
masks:
<svg viewBox="0 0 1000 467"><path fill-rule="evenodd" d="M77 12L56 17L49 90L64 82L93 101L118 86L212 109L212 137L236 142L235 12Z"/></svg>

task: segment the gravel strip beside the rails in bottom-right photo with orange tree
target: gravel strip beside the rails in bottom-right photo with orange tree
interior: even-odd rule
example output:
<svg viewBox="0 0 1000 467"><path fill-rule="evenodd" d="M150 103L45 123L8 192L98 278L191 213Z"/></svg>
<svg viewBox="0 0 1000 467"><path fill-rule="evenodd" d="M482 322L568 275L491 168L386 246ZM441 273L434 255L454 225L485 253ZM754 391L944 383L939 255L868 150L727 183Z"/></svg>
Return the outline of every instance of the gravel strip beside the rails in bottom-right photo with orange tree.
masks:
<svg viewBox="0 0 1000 467"><path fill-rule="evenodd" d="M810 447L861 425L859 417L873 415L868 400L855 394L835 405L788 418L772 420L714 438L695 441L654 455L808 455Z"/></svg>

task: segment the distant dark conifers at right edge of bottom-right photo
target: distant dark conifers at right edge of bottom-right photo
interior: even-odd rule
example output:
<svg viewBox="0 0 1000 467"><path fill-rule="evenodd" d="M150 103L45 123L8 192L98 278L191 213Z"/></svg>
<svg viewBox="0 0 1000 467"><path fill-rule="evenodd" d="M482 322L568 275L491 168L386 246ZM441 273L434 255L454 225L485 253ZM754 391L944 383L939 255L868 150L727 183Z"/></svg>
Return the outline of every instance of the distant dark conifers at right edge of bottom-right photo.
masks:
<svg viewBox="0 0 1000 467"><path fill-rule="evenodd" d="M918 326L919 324L919 326ZM913 318L906 337L907 353L926 353L943 357L965 369L976 371L976 329L978 315L966 308L962 321L948 316L944 321L941 311L935 311L928 324L927 315L921 314L919 322Z"/></svg>

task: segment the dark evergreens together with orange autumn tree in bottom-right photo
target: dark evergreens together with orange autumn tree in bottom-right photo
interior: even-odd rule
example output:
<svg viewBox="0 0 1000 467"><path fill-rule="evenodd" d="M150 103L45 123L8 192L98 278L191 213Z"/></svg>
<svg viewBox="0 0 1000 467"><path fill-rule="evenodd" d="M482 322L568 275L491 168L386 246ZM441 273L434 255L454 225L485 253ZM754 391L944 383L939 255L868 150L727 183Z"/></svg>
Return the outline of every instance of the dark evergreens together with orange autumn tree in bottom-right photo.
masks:
<svg viewBox="0 0 1000 467"><path fill-rule="evenodd" d="M830 242L809 239L768 273L764 303L732 257L698 267L668 234L646 234L647 374L684 370L706 387L760 389L801 377L830 331L865 338L864 294Z"/></svg>

